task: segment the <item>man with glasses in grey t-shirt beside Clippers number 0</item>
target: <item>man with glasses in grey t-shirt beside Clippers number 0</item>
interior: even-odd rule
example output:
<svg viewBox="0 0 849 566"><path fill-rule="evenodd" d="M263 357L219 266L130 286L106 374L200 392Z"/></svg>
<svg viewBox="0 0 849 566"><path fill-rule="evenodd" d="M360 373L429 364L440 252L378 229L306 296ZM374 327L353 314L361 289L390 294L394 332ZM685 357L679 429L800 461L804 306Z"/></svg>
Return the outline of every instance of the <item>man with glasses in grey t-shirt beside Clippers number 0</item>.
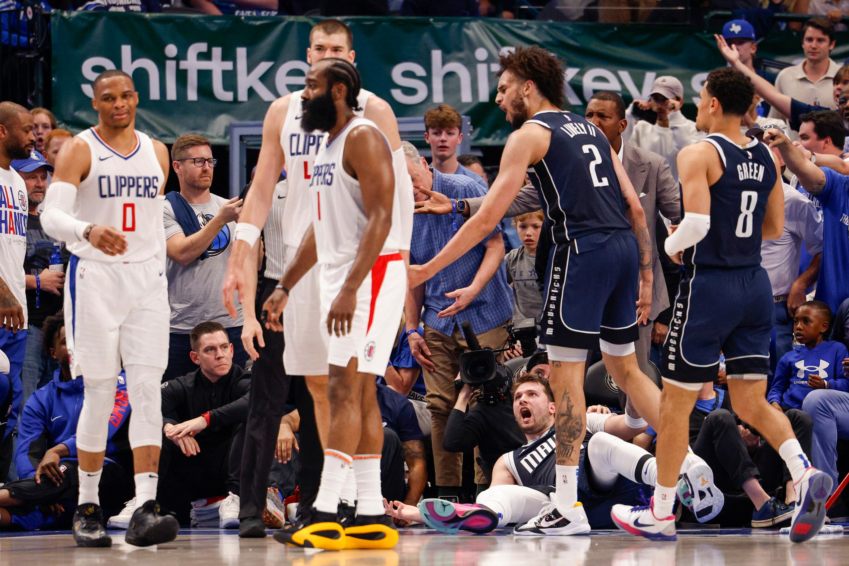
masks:
<svg viewBox="0 0 849 566"><path fill-rule="evenodd" d="M168 302L171 304L171 340L163 381L196 369L188 353L188 335L200 322L220 322L233 343L233 364L245 367L242 311L233 320L219 300L230 259L230 243L242 201L210 193L216 166L212 148L203 136L187 134L171 148L171 161L180 192L166 194Z"/></svg>

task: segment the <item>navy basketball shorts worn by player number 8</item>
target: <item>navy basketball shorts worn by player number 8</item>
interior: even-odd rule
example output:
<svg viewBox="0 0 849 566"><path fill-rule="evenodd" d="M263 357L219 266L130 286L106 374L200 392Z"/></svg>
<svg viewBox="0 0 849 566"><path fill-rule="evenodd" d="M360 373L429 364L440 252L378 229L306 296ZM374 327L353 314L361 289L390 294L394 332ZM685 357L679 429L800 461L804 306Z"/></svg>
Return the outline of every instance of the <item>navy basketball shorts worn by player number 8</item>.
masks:
<svg viewBox="0 0 849 566"><path fill-rule="evenodd" d="M683 383L714 381L719 354L728 378L764 378L773 333L773 289L761 266L694 266L678 286L663 345L661 375Z"/></svg>

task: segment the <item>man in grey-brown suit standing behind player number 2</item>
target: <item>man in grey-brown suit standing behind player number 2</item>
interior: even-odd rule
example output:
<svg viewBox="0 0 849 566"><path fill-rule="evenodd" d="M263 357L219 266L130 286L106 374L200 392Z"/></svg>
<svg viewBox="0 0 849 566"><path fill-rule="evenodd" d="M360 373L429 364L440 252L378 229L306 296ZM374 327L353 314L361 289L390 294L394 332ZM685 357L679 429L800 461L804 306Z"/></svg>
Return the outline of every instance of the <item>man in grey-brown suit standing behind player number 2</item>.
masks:
<svg viewBox="0 0 849 566"><path fill-rule="evenodd" d="M653 375L653 372L649 373L649 350L651 349L652 334L654 333L655 339L662 343L666 339L668 330L666 324L655 322L655 319L670 305L670 297L666 291L653 228L658 219L658 213L672 221L672 224L678 224L681 217L681 193L678 190L678 182L675 182L672 177L669 163L666 162L665 158L647 149L640 149L623 142L621 133L625 131L627 120L625 119L625 102L621 96L610 91L596 92L587 104L586 117L587 120L598 126L599 130L604 133L604 137L607 137L610 145L619 154L619 159L625 166L625 172L631 179L634 190L638 193L640 204L643 205L643 210L645 210L646 223L651 228L649 235L654 256L652 271L655 275L655 282L649 322L640 326L639 340L635 346L640 370L646 375ZM457 210L462 211L464 216L472 216L481 208L483 199L483 197L478 197L459 201ZM452 203L439 194L433 195L430 200L421 204L417 203L417 205L422 205L417 212L446 214L452 210ZM542 207L539 204L537 189L532 185L526 185L520 190L504 217L518 216L540 208ZM634 306L634 309L636 308Z"/></svg>

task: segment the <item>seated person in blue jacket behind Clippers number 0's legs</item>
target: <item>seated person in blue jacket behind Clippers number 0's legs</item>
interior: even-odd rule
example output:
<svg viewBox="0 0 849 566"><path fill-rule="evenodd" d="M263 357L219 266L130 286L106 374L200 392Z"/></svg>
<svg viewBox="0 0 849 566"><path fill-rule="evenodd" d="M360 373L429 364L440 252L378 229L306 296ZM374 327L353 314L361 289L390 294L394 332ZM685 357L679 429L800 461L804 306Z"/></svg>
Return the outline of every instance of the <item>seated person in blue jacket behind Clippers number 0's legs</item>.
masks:
<svg viewBox="0 0 849 566"><path fill-rule="evenodd" d="M2 530L68 528L70 513L76 507L79 485L76 423L82 410L83 378L71 379L65 319L61 311L44 321L42 332L42 347L49 356L59 360L59 369L53 374L53 381L30 396L21 413L14 464L18 475L25 479L10 482L0 489ZM119 456L121 451L129 456L126 426L129 414L126 379L121 372L110 415L106 465L100 481L104 508L115 513L132 497L132 474L127 474L121 464L110 459ZM127 460L132 462L132 459Z"/></svg>

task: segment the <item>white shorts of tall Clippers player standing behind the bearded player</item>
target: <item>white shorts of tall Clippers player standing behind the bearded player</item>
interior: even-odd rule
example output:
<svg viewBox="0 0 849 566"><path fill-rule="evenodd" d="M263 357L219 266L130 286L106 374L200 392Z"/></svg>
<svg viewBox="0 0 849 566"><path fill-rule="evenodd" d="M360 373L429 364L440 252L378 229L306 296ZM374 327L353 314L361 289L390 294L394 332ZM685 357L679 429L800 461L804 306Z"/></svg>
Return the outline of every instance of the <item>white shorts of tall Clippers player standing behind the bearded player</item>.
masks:
<svg viewBox="0 0 849 566"><path fill-rule="evenodd" d="M285 266L295 259L297 251L297 246L286 246ZM318 265L312 266L290 289L283 310L283 366L288 375L327 375L327 346L317 323L321 318L318 271Z"/></svg>

